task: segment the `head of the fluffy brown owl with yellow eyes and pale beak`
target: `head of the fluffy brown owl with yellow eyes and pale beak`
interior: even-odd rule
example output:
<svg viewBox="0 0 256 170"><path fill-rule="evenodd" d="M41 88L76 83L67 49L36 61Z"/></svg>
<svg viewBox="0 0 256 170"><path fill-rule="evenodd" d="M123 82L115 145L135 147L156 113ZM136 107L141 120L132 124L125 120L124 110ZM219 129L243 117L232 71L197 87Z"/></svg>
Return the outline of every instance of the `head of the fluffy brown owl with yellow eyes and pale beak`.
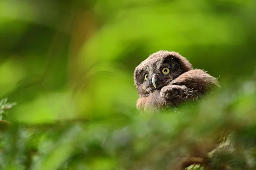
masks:
<svg viewBox="0 0 256 170"><path fill-rule="evenodd" d="M140 97L145 97L192 69L189 61L177 52L158 51L135 68L134 83Z"/></svg>

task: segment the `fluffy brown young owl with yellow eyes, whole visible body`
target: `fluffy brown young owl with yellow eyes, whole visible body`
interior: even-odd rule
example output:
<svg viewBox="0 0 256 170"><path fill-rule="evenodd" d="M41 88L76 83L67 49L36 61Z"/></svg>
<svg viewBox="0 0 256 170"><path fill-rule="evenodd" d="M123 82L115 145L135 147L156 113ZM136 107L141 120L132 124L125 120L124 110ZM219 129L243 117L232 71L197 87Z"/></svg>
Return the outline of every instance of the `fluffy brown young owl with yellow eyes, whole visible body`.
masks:
<svg viewBox="0 0 256 170"><path fill-rule="evenodd" d="M137 109L159 111L198 99L218 80L177 52L158 51L140 63L134 71L134 83L139 94Z"/></svg>

